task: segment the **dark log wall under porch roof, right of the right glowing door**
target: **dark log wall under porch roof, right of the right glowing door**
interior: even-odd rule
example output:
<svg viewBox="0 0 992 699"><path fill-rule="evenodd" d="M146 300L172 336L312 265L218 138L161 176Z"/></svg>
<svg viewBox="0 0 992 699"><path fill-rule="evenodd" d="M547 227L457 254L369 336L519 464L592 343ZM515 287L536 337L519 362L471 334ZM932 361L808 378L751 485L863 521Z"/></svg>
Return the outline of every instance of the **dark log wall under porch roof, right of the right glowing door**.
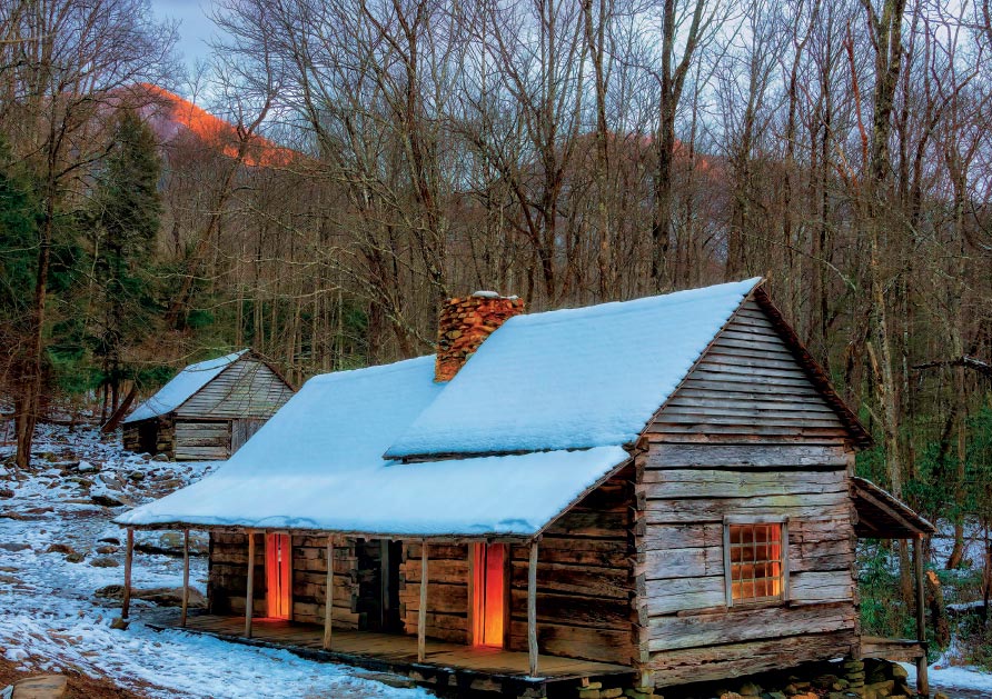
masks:
<svg viewBox="0 0 992 699"><path fill-rule="evenodd" d="M537 645L543 653L631 665L634 469L589 493L538 545ZM528 548L512 547L508 648L527 650Z"/></svg>

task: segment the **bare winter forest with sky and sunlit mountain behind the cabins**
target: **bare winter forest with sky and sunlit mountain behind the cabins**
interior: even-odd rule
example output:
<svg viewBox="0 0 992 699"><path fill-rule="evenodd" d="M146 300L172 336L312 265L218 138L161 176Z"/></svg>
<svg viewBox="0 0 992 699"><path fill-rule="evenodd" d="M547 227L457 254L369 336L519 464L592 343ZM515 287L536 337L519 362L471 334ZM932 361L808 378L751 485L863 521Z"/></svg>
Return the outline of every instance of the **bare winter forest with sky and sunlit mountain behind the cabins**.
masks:
<svg viewBox="0 0 992 699"><path fill-rule="evenodd" d="M230 349L299 385L430 352L440 301L476 289L537 311L761 274L875 435L861 473L939 520L930 563L988 600L989 0L220 0L214 19L189 71L141 0L0 1L18 467L52 410L106 421ZM899 603L865 622L897 632L905 550L869 556Z"/></svg>

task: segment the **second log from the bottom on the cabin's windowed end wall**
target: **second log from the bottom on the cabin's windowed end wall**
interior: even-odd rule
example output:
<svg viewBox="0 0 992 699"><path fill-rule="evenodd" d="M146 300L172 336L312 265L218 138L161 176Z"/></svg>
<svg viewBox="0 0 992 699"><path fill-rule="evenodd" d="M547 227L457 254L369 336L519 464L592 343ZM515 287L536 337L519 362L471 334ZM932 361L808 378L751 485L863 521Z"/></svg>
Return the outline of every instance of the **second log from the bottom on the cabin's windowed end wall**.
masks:
<svg viewBox="0 0 992 699"><path fill-rule="evenodd" d="M648 650L845 631L854 629L855 617L853 600L837 605L737 607L712 615L652 617Z"/></svg>

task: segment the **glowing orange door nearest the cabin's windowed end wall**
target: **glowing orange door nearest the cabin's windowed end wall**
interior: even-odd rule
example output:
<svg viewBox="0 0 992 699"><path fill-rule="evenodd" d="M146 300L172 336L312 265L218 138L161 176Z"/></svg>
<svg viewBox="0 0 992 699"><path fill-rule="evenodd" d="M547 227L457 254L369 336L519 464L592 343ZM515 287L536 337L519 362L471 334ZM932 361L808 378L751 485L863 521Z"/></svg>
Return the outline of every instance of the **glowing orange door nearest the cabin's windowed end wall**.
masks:
<svg viewBox="0 0 992 699"><path fill-rule="evenodd" d="M503 648L508 559L505 543L472 545L472 640L475 646Z"/></svg>

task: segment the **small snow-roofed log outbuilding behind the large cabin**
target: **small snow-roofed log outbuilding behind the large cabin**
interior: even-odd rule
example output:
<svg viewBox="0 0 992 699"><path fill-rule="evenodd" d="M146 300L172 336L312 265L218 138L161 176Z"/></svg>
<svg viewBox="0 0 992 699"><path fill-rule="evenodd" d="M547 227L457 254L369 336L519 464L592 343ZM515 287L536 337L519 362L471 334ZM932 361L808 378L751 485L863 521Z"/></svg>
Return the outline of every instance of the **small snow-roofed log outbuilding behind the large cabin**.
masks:
<svg viewBox="0 0 992 699"><path fill-rule="evenodd" d="M271 365L247 349L190 365L128 415L123 448L178 461L224 460L292 392Z"/></svg>

